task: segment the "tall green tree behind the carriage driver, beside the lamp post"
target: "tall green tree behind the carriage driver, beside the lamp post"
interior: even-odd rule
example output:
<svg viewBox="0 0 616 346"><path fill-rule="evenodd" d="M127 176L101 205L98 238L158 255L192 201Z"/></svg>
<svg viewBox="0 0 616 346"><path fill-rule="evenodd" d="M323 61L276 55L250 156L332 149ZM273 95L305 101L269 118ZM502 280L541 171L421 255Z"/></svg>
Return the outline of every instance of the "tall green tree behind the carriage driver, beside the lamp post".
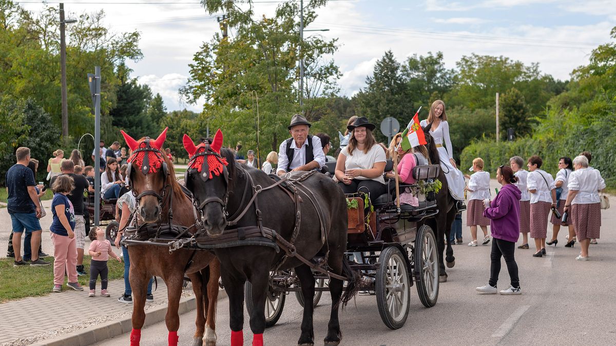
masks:
<svg viewBox="0 0 616 346"><path fill-rule="evenodd" d="M221 127L225 145L242 142L256 148L257 134L262 151L278 150L288 137L291 116L299 113L299 46L306 62L305 97L329 95L336 90L338 68L325 57L336 50L335 40L308 36L299 42L298 1L278 5L274 17L253 18L253 3L243 9L230 0L202 1L210 13L224 12L223 23L233 37L214 34L204 43L190 64L190 78L180 89L189 102L205 99L199 121L210 129ZM325 1L309 1L304 23L314 22L315 9ZM257 110L258 102L258 110ZM304 108L312 118L312 103Z"/></svg>

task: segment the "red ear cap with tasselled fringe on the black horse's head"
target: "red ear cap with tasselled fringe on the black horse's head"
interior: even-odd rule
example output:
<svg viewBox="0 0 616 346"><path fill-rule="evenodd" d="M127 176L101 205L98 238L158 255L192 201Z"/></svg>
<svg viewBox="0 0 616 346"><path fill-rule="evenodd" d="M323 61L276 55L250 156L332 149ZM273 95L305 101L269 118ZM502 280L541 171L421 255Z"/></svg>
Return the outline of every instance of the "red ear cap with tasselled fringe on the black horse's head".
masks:
<svg viewBox="0 0 616 346"><path fill-rule="evenodd" d="M198 172L201 173L203 171L203 167L207 167L209 171L209 179L212 179L214 175L221 175L223 172L224 166L227 166L227 159L221 156L221 147L222 147L222 131L218 129L216 131L216 135L214 136L214 140L212 145L208 143L199 143L199 145L195 145L193 140L188 137L187 134L184 134L184 148L188 153L188 158L190 161L188 162L188 169L195 168ZM213 151L217 155L199 155L194 156L198 153L203 153L205 151ZM207 159L207 164L203 164L203 161Z"/></svg>

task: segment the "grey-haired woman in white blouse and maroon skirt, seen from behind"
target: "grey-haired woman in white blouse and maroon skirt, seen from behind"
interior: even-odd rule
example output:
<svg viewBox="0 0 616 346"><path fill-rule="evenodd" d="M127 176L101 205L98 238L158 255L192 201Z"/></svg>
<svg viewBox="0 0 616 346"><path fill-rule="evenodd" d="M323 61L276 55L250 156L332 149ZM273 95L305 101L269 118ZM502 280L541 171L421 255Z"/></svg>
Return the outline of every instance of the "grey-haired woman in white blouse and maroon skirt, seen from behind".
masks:
<svg viewBox="0 0 616 346"><path fill-rule="evenodd" d="M573 159L573 171L569 177L569 195L565 201L565 212L575 227L575 234L582 245L577 260L588 260L588 246L591 238L599 238L601 228L601 203L599 191L606 188L606 182L598 169L588 167L586 156Z"/></svg>

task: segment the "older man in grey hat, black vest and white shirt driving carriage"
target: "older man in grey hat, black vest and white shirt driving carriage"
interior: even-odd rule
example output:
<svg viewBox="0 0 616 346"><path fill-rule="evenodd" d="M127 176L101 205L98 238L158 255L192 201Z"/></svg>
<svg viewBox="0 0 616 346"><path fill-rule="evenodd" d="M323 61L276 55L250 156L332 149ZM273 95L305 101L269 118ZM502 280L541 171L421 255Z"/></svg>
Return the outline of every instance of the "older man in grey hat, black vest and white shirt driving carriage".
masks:
<svg viewBox="0 0 616 346"><path fill-rule="evenodd" d="M292 171L312 171L325 166L321 140L308 134L310 123L306 118L299 114L294 115L287 128L292 137L280 144L276 173L283 175Z"/></svg>

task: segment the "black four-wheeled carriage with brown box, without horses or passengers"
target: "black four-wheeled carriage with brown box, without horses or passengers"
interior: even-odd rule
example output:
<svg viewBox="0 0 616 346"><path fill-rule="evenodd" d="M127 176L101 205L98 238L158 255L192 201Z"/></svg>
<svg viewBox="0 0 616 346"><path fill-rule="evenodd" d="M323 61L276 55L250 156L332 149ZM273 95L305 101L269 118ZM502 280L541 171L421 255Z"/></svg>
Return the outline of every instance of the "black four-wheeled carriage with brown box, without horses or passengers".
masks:
<svg viewBox="0 0 616 346"><path fill-rule="evenodd" d="M388 162L386 170L391 170ZM416 166L416 180L436 179L440 166ZM395 182L389 180L389 192L375 199L373 206L363 194L347 195L348 242L345 260L352 270L361 275L360 289L375 292L376 303L383 323L397 329L407 320L410 307L410 289L416 285L419 300L425 307L436 304L439 296L439 263L436 236L423 223L439 211L436 196L423 199L418 206L395 201ZM418 190L418 185L400 185L401 190ZM373 209L373 211L370 211ZM344 215L342 215L344 217ZM322 262L315 257L313 262ZM328 275L315 273L316 287L314 305L318 304L320 292L328 291ZM250 312L253 304L251 284L246 283L246 307ZM304 305L301 284L293 271L272 272L269 281L266 326L273 326L285 306L285 295L296 292L299 303Z"/></svg>

